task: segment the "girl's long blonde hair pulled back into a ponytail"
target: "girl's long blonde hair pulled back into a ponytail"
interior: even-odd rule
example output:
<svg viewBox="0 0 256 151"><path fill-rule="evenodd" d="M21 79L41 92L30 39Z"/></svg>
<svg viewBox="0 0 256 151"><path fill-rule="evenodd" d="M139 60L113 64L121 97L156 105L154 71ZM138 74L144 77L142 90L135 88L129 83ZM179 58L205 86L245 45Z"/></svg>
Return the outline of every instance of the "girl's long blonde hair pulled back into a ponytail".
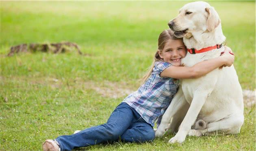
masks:
<svg viewBox="0 0 256 151"><path fill-rule="evenodd" d="M182 39L182 38L177 38L176 36L174 36L174 32L172 30L170 29L164 30L163 32L161 32L161 34L158 37L158 51L160 52L163 51L165 44L167 43L168 40L178 40L178 39ZM142 78L142 84L145 83L145 81L147 81L148 78L150 77L150 74L153 71L153 68L155 66L155 62L163 61L163 59L159 56L158 51L156 51L156 54L154 55L154 60L152 62L152 65L148 69L148 72Z"/></svg>

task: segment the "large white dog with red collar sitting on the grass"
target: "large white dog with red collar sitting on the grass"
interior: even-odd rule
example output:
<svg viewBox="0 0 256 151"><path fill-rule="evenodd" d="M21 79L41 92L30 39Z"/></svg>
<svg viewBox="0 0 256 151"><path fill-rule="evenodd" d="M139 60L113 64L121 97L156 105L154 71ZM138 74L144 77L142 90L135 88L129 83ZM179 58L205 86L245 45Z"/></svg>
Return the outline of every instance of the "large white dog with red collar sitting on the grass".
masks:
<svg viewBox="0 0 256 151"><path fill-rule="evenodd" d="M168 23L175 35L183 37L184 44L190 49L190 53L182 59L185 66L219 57L224 51L221 44L226 37L220 22L219 15L208 3L191 2L184 5L179 15ZM226 134L240 132L244 121L243 94L234 66L215 69L201 78L182 79L180 82L180 88L163 115L156 136L163 136L169 128L178 129L179 124L175 122L179 123L183 118L178 133L169 140L170 143L182 143L188 134L201 136L216 131ZM188 104L189 109L184 111ZM182 115L184 112L187 112L185 117ZM206 128L203 126L203 130L191 130L198 119L202 120L199 125L203 123Z"/></svg>

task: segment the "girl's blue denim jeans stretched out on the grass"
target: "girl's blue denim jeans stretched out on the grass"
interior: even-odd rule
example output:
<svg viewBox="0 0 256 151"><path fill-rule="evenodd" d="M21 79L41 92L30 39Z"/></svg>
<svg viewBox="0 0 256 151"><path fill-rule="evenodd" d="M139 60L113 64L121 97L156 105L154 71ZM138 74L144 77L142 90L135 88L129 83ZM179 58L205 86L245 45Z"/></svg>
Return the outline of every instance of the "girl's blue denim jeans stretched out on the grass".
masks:
<svg viewBox="0 0 256 151"><path fill-rule="evenodd" d="M154 140L154 129L150 124L131 108L122 102L110 115L107 123L87 128L73 135L59 136L61 151L72 150L78 147L87 147L102 142L117 141L145 142Z"/></svg>

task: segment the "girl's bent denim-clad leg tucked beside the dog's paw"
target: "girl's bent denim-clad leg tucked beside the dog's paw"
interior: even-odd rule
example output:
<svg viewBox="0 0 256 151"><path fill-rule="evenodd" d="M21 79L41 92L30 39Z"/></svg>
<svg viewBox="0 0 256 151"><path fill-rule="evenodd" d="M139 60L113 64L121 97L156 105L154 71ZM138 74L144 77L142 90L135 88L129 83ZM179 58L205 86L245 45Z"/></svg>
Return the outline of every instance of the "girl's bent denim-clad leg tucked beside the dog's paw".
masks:
<svg viewBox="0 0 256 151"><path fill-rule="evenodd" d="M124 142L146 142L154 140L155 132L152 126L145 122L136 122L121 135Z"/></svg>

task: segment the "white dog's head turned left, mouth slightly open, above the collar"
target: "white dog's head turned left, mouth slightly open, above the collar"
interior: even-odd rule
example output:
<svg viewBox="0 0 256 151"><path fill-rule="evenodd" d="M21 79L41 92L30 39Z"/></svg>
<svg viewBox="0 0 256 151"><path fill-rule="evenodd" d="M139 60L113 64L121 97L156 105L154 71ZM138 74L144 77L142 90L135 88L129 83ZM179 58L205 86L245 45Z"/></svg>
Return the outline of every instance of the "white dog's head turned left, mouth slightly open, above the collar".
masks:
<svg viewBox="0 0 256 151"><path fill-rule="evenodd" d="M190 38L193 32L212 32L221 22L213 7L206 2L185 4L168 26L176 37ZM192 33L192 34L191 34Z"/></svg>

